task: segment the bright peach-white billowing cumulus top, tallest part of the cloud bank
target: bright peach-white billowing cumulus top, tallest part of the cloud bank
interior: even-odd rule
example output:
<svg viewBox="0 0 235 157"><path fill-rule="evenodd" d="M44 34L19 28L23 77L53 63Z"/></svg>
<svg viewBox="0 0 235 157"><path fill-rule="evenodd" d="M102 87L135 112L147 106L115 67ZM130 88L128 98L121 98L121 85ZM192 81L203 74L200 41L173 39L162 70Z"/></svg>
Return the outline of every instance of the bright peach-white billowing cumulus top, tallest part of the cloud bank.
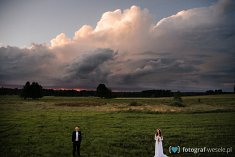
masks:
<svg viewBox="0 0 235 157"><path fill-rule="evenodd" d="M123 12L118 9L102 15L97 26L84 25L75 32L73 39L61 33L51 40L51 47L70 46L77 50L112 48L120 51L144 51L151 34L153 20L147 9L132 6ZM144 42L143 42L144 41Z"/></svg>

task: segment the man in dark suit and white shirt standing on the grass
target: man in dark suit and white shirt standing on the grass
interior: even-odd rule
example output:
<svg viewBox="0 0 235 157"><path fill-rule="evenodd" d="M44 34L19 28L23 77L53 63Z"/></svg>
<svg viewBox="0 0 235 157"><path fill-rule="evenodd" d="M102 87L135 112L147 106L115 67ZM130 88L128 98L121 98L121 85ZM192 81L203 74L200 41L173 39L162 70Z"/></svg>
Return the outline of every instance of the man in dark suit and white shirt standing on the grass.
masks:
<svg viewBox="0 0 235 157"><path fill-rule="evenodd" d="M82 141L82 134L80 131L80 127L76 126L75 131L72 133L72 142L73 142L73 156L75 156L75 152L77 150L78 156L80 156L80 144Z"/></svg>

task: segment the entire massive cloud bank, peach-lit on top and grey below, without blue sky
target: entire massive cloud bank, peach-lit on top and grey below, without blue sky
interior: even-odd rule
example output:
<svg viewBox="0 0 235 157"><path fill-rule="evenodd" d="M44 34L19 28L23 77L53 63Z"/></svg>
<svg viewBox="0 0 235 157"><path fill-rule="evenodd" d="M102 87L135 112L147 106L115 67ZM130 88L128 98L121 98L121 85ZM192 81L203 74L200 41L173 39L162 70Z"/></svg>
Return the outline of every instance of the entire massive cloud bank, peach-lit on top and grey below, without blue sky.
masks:
<svg viewBox="0 0 235 157"><path fill-rule="evenodd" d="M73 38L51 45L0 48L1 84L114 89L231 90L235 78L235 2L180 11L157 23L132 6L102 15Z"/></svg>

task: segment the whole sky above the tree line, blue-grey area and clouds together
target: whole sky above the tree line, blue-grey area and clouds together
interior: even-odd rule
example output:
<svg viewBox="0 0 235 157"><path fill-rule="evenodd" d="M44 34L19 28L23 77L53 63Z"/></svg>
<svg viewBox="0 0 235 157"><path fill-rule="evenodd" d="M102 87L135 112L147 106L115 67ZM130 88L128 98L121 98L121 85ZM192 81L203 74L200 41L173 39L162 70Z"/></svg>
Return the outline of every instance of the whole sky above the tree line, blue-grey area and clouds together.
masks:
<svg viewBox="0 0 235 157"><path fill-rule="evenodd" d="M0 86L232 91L233 0L0 0Z"/></svg>

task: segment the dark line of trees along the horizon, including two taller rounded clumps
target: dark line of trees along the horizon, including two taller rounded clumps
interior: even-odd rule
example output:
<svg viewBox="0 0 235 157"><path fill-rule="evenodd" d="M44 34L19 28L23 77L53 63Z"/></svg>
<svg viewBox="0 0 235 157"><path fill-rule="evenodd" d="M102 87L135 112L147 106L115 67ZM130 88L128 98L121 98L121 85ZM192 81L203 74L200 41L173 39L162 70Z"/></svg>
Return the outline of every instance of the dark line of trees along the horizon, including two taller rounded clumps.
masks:
<svg viewBox="0 0 235 157"><path fill-rule="evenodd" d="M234 86L235 87L235 86ZM144 90L141 92L113 92L105 84L99 84L96 90L55 90L44 89L37 82L26 82L22 89L17 88L0 88L0 95L20 95L22 98L37 99L42 96L66 96L66 97L88 97L98 96L101 98L115 98L115 97L172 97L176 92L171 90ZM227 94L232 92L223 92L221 89L208 90L206 92L180 92L181 96L200 96L200 95L215 95L215 94Z"/></svg>

